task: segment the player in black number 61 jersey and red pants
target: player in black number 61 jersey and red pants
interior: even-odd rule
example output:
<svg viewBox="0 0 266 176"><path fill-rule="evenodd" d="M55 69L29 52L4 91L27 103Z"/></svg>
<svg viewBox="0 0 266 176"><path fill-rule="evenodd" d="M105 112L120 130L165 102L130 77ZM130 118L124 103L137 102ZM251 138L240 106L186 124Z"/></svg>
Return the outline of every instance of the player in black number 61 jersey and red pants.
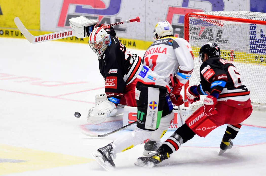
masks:
<svg viewBox="0 0 266 176"><path fill-rule="evenodd" d="M220 48L216 43L203 45L199 57L203 62L200 67L201 84L188 87L186 95L190 104L200 100L200 94L207 95L203 101L204 105L161 145L156 155L140 157L136 165L153 167L168 159L170 154L192 139L195 134L205 137L223 124L228 125L219 155L232 148L231 140L236 137L241 123L252 112L250 91L232 62L220 58Z"/></svg>

